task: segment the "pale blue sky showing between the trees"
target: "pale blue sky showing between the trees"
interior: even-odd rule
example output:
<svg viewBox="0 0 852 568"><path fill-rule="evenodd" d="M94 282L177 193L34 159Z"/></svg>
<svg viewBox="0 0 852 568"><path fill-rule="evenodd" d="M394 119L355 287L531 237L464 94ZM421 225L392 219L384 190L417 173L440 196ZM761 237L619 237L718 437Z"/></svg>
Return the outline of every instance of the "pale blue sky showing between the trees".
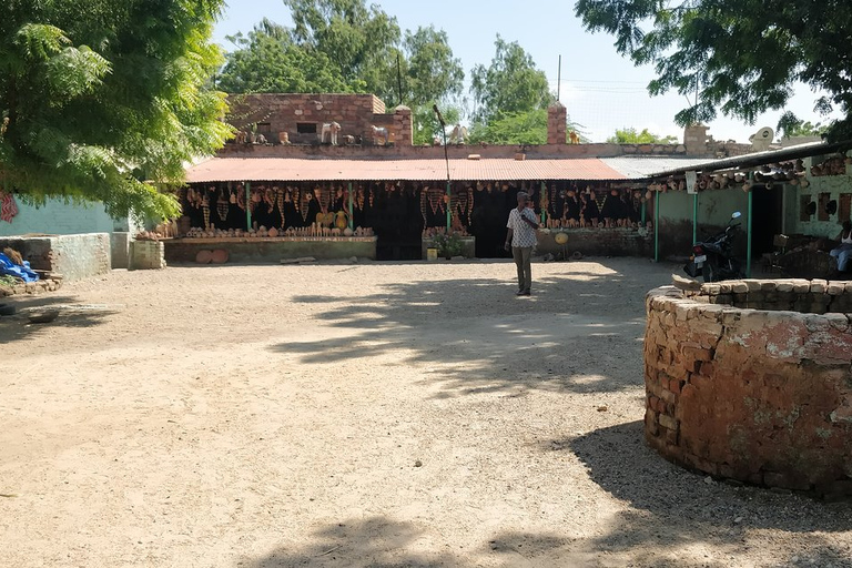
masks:
<svg viewBox="0 0 852 568"><path fill-rule="evenodd" d="M559 55L562 57L560 100L572 122L592 142L604 142L616 129L648 129L660 135L682 140L683 130L674 114L687 105L677 93L650 97L646 90L656 75L651 67L635 67L618 54L613 38L589 33L574 14L574 0L374 0L395 16L403 30L434 24L449 37L449 45L462 60L466 78L476 64L488 65L494 57L494 40L517 41L547 73L556 92ZM229 0L214 31L214 41L225 50L233 45L226 36L247 32L262 18L290 26L290 11L281 0ZM825 122L813 112L816 95L801 85L788 104L800 119ZM720 116L709 124L716 140L748 142L761 126L773 128L782 111L768 112L754 124Z"/></svg>

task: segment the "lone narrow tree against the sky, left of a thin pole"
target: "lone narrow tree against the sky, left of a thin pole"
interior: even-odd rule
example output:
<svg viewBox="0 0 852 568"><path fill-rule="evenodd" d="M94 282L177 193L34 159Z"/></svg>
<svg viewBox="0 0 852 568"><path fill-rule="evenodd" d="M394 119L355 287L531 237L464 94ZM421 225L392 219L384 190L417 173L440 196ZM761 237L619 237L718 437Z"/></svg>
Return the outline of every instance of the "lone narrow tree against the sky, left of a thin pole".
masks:
<svg viewBox="0 0 852 568"><path fill-rule="evenodd" d="M554 100L547 75L517 42L497 36L491 64L471 71L470 92L476 103L474 121L488 123L501 114L546 109Z"/></svg>

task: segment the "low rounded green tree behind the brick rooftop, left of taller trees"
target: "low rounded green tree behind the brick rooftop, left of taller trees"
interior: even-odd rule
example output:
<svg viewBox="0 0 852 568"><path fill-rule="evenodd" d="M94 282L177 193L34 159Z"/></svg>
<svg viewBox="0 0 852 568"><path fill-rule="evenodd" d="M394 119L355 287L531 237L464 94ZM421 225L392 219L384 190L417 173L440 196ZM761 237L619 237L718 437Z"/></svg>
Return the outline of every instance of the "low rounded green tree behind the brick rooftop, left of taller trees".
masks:
<svg viewBox="0 0 852 568"><path fill-rule="evenodd" d="M229 93L363 92L364 81L346 81L328 57L293 43L287 30L264 19L248 36L227 38L237 49L217 78Z"/></svg>

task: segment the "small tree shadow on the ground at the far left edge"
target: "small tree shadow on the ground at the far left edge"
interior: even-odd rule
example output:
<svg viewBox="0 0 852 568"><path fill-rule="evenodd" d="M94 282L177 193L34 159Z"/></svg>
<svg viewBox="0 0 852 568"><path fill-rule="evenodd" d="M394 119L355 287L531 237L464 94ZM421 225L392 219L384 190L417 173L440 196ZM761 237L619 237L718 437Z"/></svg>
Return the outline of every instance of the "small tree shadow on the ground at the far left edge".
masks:
<svg viewBox="0 0 852 568"><path fill-rule="evenodd" d="M0 317L0 344L27 339L54 327L93 327L115 314L109 308L92 310L71 296L14 296L3 298L3 303L12 304L17 313ZM42 310L59 310L59 316L50 323L30 323L28 315Z"/></svg>

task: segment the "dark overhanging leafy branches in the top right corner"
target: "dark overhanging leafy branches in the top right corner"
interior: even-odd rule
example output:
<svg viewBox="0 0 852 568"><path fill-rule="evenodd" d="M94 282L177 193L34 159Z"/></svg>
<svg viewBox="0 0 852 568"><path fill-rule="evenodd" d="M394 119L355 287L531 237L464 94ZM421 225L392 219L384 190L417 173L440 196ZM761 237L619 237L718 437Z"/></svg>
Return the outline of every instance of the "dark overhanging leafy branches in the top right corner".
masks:
<svg viewBox="0 0 852 568"><path fill-rule="evenodd" d="M636 64L652 63L651 94L674 90L690 100L676 114L681 125L717 112L752 124L783 109L802 82L826 94L821 113L839 108L832 139L852 138L852 4L841 1L578 0L576 13L591 31L616 37L616 49Z"/></svg>

